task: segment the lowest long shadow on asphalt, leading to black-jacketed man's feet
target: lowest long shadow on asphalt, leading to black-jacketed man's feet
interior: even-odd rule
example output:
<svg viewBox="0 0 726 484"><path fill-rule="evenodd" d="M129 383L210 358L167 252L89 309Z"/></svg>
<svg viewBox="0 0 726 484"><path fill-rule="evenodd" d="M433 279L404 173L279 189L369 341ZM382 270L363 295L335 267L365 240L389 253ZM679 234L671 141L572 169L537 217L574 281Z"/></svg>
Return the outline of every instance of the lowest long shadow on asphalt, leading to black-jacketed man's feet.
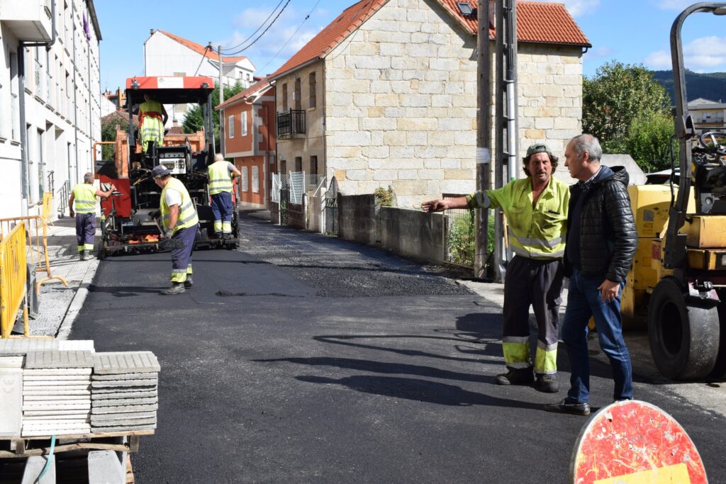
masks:
<svg viewBox="0 0 726 484"><path fill-rule="evenodd" d="M355 375L353 377L327 378L300 375L295 380L319 385L341 385L351 390L391 398L436 403L446 406L501 406L508 409L529 409L544 411L542 403L529 403L509 398L497 398L482 393L470 392L456 385L418 380L416 378L378 377Z"/></svg>

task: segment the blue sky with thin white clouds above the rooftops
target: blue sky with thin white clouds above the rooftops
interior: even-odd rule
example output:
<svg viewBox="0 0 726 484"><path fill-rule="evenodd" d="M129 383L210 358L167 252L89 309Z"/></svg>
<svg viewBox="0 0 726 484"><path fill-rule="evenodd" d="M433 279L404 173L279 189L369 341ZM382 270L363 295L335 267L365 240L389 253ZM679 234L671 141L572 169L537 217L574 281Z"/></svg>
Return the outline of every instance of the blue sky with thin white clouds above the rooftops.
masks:
<svg viewBox="0 0 726 484"><path fill-rule="evenodd" d="M239 55L272 73L355 0L191 0L95 1L101 41L101 89L123 86L144 72L143 46L149 30L160 28L197 44L229 48L263 24L275 7L287 7L264 36ZM675 17L695 0L564 0L592 49L584 74L610 60L670 69L669 33ZM173 7L171 7L173 5ZM129 12L135 12L129 18ZM277 10L279 12L279 9ZM275 14L277 15L277 13ZM309 15L307 20L306 17ZM269 22L268 22L269 23ZM253 38L258 36L257 33ZM694 14L685 24L686 67L697 72L726 71L726 17ZM249 44L249 42L247 43ZM247 45L245 44L245 45ZM244 45L243 45L244 46Z"/></svg>

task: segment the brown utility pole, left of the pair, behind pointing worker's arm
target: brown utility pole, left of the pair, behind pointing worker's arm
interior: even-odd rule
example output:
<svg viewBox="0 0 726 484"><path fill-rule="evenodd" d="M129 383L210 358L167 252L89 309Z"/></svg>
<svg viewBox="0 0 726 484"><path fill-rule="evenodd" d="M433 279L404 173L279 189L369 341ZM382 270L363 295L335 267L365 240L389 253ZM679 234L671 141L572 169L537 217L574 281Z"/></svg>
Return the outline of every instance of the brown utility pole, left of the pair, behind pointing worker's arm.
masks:
<svg viewBox="0 0 726 484"><path fill-rule="evenodd" d="M478 55L477 123L476 123L476 189L489 189L489 171L492 161L492 56L489 44L489 0L478 0L476 52ZM486 246L488 242L489 210L476 210L476 253L474 276L486 276Z"/></svg>

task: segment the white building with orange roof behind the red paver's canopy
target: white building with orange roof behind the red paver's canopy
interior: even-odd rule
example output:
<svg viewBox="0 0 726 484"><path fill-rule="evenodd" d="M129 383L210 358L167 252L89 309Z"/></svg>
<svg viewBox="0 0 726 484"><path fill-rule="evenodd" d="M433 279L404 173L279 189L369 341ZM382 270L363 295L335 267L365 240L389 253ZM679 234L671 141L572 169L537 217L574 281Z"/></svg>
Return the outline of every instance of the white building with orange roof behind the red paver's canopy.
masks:
<svg viewBox="0 0 726 484"><path fill-rule="evenodd" d="M214 49L217 46L213 46ZM144 42L144 75L206 75L219 83L219 54L164 30L150 31ZM247 57L222 56L222 81L225 86L239 82L245 89L254 83L255 65ZM133 73L129 73L131 77ZM165 106L171 126L174 120L184 120L187 104Z"/></svg>

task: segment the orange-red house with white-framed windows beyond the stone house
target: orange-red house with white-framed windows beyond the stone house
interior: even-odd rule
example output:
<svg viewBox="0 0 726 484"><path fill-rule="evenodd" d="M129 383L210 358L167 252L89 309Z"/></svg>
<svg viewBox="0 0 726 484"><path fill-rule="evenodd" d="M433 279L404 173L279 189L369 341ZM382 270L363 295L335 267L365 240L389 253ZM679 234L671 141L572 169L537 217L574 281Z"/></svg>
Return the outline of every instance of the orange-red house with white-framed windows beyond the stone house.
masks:
<svg viewBox="0 0 726 484"><path fill-rule="evenodd" d="M261 79L215 109L227 126L221 150L242 172L240 200L266 207L275 173L275 89Z"/></svg>

